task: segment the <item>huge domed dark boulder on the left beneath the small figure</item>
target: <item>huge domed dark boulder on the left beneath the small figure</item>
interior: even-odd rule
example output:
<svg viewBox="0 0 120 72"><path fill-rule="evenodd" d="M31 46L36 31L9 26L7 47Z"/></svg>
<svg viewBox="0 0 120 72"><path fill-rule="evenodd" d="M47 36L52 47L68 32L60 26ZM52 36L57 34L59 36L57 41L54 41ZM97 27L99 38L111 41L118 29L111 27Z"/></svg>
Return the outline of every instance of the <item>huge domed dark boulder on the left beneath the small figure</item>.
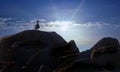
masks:
<svg viewBox="0 0 120 72"><path fill-rule="evenodd" d="M36 64L53 67L52 50L65 44L66 41L55 32L22 31L0 38L0 62L14 61L22 66L37 60Z"/></svg>

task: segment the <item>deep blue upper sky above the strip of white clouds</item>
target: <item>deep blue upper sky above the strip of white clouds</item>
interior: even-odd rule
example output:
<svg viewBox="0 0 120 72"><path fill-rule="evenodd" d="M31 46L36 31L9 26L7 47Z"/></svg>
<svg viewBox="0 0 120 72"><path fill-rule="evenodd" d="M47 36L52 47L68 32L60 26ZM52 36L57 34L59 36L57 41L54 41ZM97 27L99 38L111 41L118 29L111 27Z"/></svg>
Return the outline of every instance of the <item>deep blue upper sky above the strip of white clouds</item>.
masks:
<svg viewBox="0 0 120 72"><path fill-rule="evenodd" d="M120 0L0 0L0 17L120 23Z"/></svg>

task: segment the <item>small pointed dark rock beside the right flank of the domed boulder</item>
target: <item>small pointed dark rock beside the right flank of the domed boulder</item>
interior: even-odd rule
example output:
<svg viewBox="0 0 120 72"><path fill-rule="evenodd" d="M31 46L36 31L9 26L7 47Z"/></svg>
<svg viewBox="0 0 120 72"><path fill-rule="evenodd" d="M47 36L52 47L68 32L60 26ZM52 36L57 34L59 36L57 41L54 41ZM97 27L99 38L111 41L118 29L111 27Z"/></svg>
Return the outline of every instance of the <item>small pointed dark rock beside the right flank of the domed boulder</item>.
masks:
<svg viewBox="0 0 120 72"><path fill-rule="evenodd" d="M67 55L76 54L76 53L79 54L79 50L75 45L74 41L70 41L68 44L57 47L52 51L52 55L56 59L60 59L61 57L65 57Z"/></svg>

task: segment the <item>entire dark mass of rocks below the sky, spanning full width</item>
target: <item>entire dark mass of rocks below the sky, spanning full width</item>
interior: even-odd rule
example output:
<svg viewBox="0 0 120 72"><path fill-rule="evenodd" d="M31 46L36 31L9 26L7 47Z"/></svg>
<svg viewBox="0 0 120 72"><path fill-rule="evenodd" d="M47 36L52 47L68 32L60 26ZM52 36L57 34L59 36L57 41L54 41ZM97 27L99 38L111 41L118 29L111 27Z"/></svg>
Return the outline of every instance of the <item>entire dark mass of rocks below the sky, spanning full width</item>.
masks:
<svg viewBox="0 0 120 72"><path fill-rule="evenodd" d="M27 30L0 38L1 72L120 72L120 45L103 38L80 52L55 32Z"/></svg>

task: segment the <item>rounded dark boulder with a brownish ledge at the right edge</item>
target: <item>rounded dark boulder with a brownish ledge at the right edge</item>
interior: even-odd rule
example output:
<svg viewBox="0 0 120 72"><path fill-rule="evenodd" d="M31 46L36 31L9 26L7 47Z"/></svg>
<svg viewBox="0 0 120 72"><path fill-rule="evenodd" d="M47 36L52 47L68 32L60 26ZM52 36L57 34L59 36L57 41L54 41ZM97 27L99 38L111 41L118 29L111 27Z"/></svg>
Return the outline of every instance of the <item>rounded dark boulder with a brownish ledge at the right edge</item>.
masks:
<svg viewBox="0 0 120 72"><path fill-rule="evenodd" d="M91 62L104 69L120 68L120 45L115 38L103 38L91 48Z"/></svg>

